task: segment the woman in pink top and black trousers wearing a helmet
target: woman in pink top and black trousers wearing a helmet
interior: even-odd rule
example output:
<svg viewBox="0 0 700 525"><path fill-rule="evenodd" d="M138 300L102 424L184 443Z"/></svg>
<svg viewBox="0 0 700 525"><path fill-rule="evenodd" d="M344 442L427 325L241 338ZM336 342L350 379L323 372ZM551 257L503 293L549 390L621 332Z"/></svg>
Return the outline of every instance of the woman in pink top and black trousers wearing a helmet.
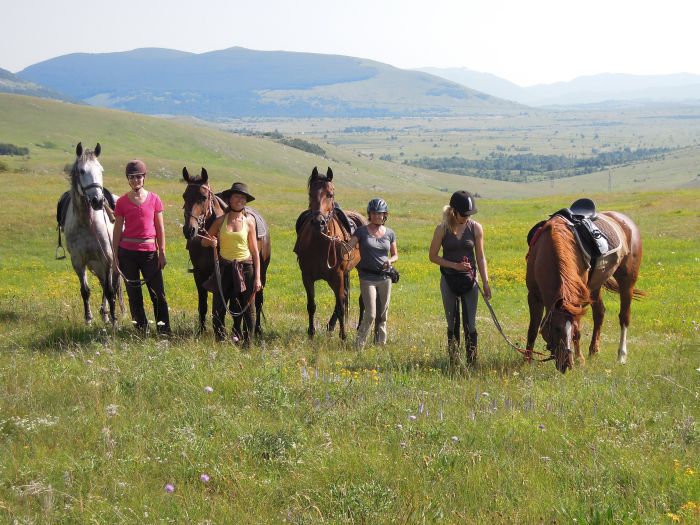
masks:
<svg viewBox="0 0 700 525"><path fill-rule="evenodd" d="M162 272L166 264L163 203L158 195L144 188L146 172L146 165L140 160L126 165L131 190L119 197L114 208L114 263L126 280L136 329L145 333L148 327L140 282L143 276L153 303L157 332L170 335Z"/></svg>

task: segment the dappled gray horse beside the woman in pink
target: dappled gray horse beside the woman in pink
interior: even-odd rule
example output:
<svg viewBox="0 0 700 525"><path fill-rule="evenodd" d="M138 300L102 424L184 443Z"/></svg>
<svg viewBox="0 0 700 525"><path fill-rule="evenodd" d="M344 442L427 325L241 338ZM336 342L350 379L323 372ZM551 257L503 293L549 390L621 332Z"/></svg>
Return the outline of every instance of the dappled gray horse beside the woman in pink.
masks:
<svg viewBox="0 0 700 525"><path fill-rule="evenodd" d="M119 276L114 272L112 260L113 227L104 208L103 168L97 160L100 150L99 143L94 151L83 151L81 143L75 149L76 159L70 172L71 199L65 223L66 248L80 280L85 322L88 324L92 321L92 312L87 269L95 274L102 286L100 313L104 322L108 320L108 304L109 319L112 323L116 321L114 301L119 289Z"/></svg>

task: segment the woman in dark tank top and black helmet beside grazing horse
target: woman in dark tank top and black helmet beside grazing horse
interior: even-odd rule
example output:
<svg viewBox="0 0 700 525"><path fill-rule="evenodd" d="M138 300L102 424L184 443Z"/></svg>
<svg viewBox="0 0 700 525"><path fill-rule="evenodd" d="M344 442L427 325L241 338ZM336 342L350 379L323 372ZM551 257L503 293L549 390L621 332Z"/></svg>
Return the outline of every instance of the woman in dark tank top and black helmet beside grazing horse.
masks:
<svg viewBox="0 0 700 525"><path fill-rule="evenodd" d="M447 348L450 368L459 368L459 309L462 307L462 324L466 345L467 363L476 360L477 331L476 306L479 298L475 268L481 277L481 289L486 299L491 298L486 255L484 254L484 229L472 219L477 212L474 196L467 191L456 191L450 204L443 208L442 222L435 228L430 243L430 261L440 266L440 293L447 320ZM442 248L442 256L439 255Z"/></svg>

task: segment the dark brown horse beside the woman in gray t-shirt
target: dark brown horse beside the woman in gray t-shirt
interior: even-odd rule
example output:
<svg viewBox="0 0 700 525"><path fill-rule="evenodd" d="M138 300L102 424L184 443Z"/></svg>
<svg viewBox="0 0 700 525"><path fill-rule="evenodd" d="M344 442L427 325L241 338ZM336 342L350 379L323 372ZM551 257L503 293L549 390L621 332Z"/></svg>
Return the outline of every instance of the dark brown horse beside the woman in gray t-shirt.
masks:
<svg viewBox="0 0 700 525"><path fill-rule="evenodd" d="M340 321L340 338L345 339L345 321L348 311L349 273L360 261L360 250L350 249L350 230L366 221L355 212L342 212L335 204L333 171L320 175L314 167L308 181L309 209L297 220L297 254L301 278L306 289L306 309L309 313L309 337L316 333L315 286L320 279L326 281L335 294L335 308L328 321L328 330ZM352 224L351 224L352 223Z"/></svg>

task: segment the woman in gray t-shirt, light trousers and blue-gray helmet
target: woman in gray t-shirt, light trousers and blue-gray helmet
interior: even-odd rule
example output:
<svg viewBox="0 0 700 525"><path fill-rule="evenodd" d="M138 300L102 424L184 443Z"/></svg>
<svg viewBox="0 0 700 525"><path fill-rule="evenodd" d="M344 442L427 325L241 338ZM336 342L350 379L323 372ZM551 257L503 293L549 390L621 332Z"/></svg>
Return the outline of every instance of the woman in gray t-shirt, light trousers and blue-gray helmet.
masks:
<svg viewBox="0 0 700 525"><path fill-rule="evenodd" d="M355 230L350 246L360 247L360 293L365 305L362 322L357 329L355 347L364 347L369 329L374 324L374 342L386 344L386 318L391 298L391 279L384 270L399 258L396 234L384 226L389 207L383 199L372 199L367 204L369 224Z"/></svg>

